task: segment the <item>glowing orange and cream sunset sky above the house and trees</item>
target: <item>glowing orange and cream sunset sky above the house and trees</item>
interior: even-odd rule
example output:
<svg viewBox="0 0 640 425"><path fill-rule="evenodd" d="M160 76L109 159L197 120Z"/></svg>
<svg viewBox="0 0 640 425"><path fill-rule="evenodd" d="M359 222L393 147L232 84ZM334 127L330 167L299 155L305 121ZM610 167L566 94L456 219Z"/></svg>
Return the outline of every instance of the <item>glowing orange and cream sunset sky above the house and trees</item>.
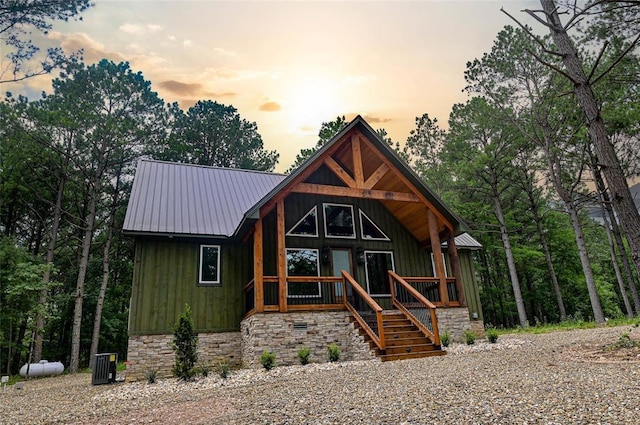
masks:
<svg viewBox="0 0 640 425"><path fill-rule="evenodd" d="M44 46L84 61L129 61L183 109L231 104L255 121L287 169L323 121L362 115L404 143L423 113L446 122L466 99L467 61L489 51L523 1L219 2L96 0L79 22L56 23ZM29 87L26 87L26 86ZM5 90L50 90L38 77Z"/></svg>

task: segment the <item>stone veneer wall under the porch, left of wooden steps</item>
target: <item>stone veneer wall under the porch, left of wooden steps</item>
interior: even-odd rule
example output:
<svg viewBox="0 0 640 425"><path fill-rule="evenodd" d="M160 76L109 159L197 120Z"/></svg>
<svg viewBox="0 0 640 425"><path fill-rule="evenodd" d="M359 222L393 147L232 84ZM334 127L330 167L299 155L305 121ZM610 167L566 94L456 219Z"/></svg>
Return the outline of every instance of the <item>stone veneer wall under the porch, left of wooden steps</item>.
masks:
<svg viewBox="0 0 640 425"><path fill-rule="evenodd" d="M240 332L245 367L260 367L264 350L276 355L278 365L299 364L297 352L302 346L311 349L311 362L324 363L331 343L340 347L341 360L376 358L346 311L254 314L242 321Z"/></svg>

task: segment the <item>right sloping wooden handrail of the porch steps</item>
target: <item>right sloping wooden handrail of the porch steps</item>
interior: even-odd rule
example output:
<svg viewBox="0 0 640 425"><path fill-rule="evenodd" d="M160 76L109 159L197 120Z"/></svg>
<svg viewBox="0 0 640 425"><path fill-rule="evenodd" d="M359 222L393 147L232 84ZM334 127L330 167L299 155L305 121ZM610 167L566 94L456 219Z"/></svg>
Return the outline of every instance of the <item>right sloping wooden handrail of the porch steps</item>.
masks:
<svg viewBox="0 0 640 425"><path fill-rule="evenodd" d="M391 302L409 318L435 345L440 345L436 306L410 285L405 278L389 270ZM436 286L437 293L437 286Z"/></svg>

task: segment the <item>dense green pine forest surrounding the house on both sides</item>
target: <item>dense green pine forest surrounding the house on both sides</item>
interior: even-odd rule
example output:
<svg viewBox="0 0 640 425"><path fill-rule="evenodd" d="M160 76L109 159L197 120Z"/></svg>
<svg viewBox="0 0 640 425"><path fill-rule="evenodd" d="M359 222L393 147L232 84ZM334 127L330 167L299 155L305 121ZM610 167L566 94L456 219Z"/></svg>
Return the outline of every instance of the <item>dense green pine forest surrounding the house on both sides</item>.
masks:
<svg viewBox="0 0 640 425"><path fill-rule="evenodd" d="M540 3L525 12L540 28L513 17L491 51L469 58L468 100L448 125L425 113L402 143L378 135L482 243L486 326L634 317L640 5ZM85 64L31 41L91 6L0 3L0 84L59 72L50 94L0 103L3 372L41 358L75 372L98 351L125 358L133 240L121 228L138 159L264 171L278 161L232 105L183 110L127 62ZM322 123L291 169L346 122Z"/></svg>

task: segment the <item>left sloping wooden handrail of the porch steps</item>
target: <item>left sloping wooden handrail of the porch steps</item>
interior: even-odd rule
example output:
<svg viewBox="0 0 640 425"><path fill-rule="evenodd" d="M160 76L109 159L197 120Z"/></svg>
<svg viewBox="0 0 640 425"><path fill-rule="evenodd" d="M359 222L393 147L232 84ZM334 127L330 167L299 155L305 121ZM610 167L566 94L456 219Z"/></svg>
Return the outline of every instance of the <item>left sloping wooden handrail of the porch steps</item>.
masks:
<svg viewBox="0 0 640 425"><path fill-rule="evenodd" d="M353 314L354 319L380 348L385 349L382 307L367 294L356 280L346 271L342 271L344 282L344 305Z"/></svg>

